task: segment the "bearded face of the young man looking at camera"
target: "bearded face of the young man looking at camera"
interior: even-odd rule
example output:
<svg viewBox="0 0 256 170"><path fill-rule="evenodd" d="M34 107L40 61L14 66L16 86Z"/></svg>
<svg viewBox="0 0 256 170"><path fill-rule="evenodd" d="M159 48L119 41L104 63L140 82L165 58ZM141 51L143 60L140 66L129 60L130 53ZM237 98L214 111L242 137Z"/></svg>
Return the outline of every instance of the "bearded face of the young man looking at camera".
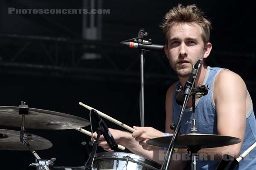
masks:
<svg viewBox="0 0 256 170"><path fill-rule="evenodd" d="M181 23L170 28L165 52L172 69L178 76L188 77L192 65L195 65L198 59L208 57L201 34L201 27L195 23ZM210 49L211 47L210 44Z"/></svg>

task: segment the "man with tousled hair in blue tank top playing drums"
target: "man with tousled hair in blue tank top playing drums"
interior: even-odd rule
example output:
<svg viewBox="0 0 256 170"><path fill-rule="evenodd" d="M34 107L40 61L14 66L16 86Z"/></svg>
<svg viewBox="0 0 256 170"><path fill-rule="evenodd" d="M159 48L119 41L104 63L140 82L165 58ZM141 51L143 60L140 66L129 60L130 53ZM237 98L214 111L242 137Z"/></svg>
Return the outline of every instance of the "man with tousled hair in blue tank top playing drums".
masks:
<svg viewBox="0 0 256 170"><path fill-rule="evenodd" d="M198 153L207 154L204 160L198 161L198 169L213 170L217 167L223 154L238 157L244 150L256 141L256 120L253 105L244 81L239 75L221 68L210 68L205 64L211 50L209 42L211 23L204 17L195 5L178 5L170 10L161 25L166 34L165 53L172 69L177 73L179 82L170 86L166 93L166 133L173 133L170 129L172 122L177 124L180 106L175 102L176 88L186 84L192 65L202 58L203 63L198 72L195 86L209 85L209 93L196 99L196 119L198 133L233 136L241 139L239 144L225 147L201 149ZM185 124L192 119L192 99L186 105L183 114L180 133L186 134L191 125ZM152 127L133 127L136 131L128 133L111 129L118 144L131 150L134 154L145 156L160 162L160 147L146 144L148 139L164 136L163 132ZM95 134L96 135L96 134ZM107 151L111 151L103 136L99 144ZM187 153L185 149L178 149L177 153ZM213 155L213 158L210 156ZM200 155L199 155L200 157ZM256 167L256 150L241 161L239 170L250 170ZM214 159L214 161L212 160ZM171 169L183 169L184 160L172 160Z"/></svg>

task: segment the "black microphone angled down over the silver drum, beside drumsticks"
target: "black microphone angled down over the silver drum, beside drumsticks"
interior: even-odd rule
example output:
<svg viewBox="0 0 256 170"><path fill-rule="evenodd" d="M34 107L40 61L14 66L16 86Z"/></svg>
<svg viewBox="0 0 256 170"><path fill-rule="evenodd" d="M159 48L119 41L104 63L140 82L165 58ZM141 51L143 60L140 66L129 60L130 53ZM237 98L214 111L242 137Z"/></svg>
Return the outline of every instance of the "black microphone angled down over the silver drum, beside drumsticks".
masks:
<svg viewBox="0 0 256 170"><path fill-rule="evenodd" d="M96 119L96 122L98 123L98 126L102 125L102 128L103 128L102 133L103 133L103 136L104 136L106 142L108 143L109 147L112 150L115 150L118 147L118 145L117 145L116 140L114 139L113 135L108 130L108 126L105 124L105 122L102 120L102 118L99 116L99 114L94 109L92 109L92 112Z"/></svg>

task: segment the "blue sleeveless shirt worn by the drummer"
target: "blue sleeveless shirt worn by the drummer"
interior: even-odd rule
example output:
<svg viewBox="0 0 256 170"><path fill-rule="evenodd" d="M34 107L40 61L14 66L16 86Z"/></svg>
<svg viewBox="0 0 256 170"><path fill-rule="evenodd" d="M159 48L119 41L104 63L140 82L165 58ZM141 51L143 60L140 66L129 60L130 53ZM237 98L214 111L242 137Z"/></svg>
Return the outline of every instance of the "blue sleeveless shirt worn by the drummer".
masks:
<svg viewBox="0 0 256 170"><path fill-rule="evenodd" d="M224 70L223 68L207 68L207 74L204 79L203 85L208 85L210 88L206 96L202 96L195 103L195 119L197 121L196 127L198 133L202 134L218 134L217 131L217 115L215 111L215 103L213 101L213 84L215 77L218 73ZM176 88L180 85L177 83ZM181 106L175 101L177 91L173 94L173 106L172 106L172 119L177 124ZM180 133L190 133L191 125L185 124L187 121L192 119L192 108L185 109L181 120ZM254 142L256 142L256 119L253 113L253 104L251 102L251 108L249 113L246 114L246 130L244 135L244 142L241 148L241 153L247 150ZM198 160L198 170L215 170L220 161L200 161ZM256 169L256 148L252 150L243 160L240 161L239 166L236 170L254 170Z"/></svg>

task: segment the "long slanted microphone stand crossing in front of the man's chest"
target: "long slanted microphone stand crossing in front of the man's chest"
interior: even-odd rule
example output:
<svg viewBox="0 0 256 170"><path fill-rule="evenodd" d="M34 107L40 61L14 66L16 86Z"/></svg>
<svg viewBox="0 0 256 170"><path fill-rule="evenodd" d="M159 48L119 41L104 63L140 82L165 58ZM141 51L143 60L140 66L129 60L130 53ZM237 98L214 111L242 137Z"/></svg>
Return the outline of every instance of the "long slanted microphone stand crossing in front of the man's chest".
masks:
<svg viewBox="0 0 256 170"><path fill-rule="evenodd" d="M201 63L200 63L200 66L201 66ZM193 66L193 68L194 68L194 66ZM174 131L174 134L172 136L172 140L171 140L171 142L169 144L168 150L166 152L166 156L165 156L165 158L163 160L163 164L162 164L162 167L161 167L160 170L169 170L169 166L170 166L173 150L174 150L174 147L175 147L175 143L176 143L176 140L177 140L178 133L180 131L181 119L182 119L183 113L185 111L186 104L187 104L187 102L189 100L189 96L191 94L192 87L194 87L195 79L196 79L196 77L198 75L199 69L200 69L200 67L198 67L198 69L196 71L195 78L194 78L194 80L192 82L192 85L191 85L190 89L188 91L186 91L186 89L184 89L185 90L184 102L183 102L183 105L182 105L182 108L181 108L181 111L180 111L180 116L179 116L177 125L175 125L175 131Z"/></svg>

